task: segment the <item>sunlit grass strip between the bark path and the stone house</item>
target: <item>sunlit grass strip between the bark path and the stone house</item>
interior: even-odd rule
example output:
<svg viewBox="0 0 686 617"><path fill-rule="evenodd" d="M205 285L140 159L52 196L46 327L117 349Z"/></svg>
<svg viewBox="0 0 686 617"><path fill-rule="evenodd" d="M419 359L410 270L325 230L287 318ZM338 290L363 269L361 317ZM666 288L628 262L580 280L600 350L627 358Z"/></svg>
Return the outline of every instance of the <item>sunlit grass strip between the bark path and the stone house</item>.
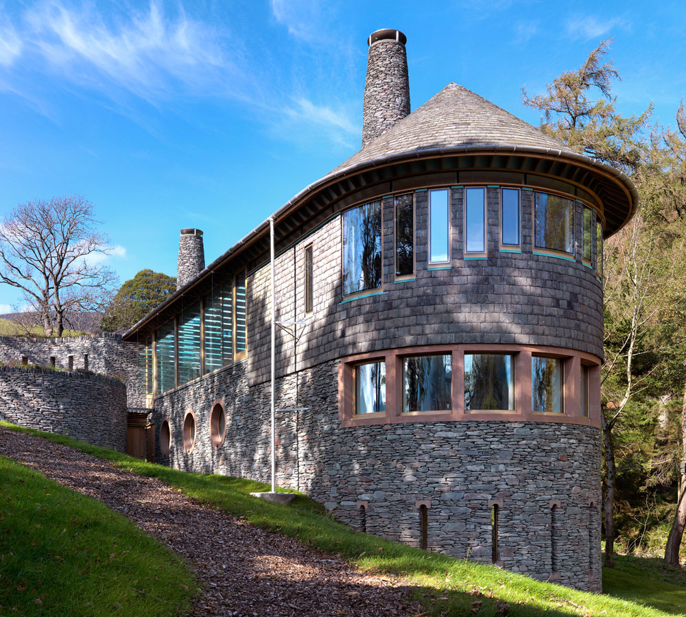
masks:
<svg viewBox="0 0 686 617"><path fill-rule="evenodd" d="M351 531L302 494L290 505L269 503L248 495L251 491L268 489L261 483L180 472L63 435L0 424L78 448L143 476L156 476L203 503L241 516L259 527L296 537L321 551L340 555L358 568L407 577L416 585L416 596L421 598L430 616L665 617L686 612L681 608L686 607L686 592L674 584L680 581L672 578L665 582L657 578L657 571L653 574L652 570L641 570L637 561L618 560L627 564L626 568L633 564L631 567L637 568L640 574L621 568L606 574L611 581L606 590L610 595L578 592L493 566L426 553L399 542ZM641 585L637 585L639 577ZM652 592L653 585L659 584L667 585L669 595Z"/></svg>

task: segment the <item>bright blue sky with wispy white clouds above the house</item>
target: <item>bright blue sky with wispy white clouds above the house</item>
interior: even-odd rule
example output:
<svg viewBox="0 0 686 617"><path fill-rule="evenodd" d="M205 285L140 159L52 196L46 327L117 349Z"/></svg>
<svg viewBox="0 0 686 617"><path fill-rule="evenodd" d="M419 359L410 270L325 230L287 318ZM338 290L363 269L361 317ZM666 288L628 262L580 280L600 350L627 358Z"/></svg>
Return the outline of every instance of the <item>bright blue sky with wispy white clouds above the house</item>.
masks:
<svg viewBox="0 0 686 617"><path fill-rule="evenodd" d="M674 124L679 2L0 0L0 216L78 193L121 282L206 261L359 149L366 38L407 35L412 109L449 82L537 124L540 93L604 38L626 114ZM0 285L0 313L19 300Z"/></svg>

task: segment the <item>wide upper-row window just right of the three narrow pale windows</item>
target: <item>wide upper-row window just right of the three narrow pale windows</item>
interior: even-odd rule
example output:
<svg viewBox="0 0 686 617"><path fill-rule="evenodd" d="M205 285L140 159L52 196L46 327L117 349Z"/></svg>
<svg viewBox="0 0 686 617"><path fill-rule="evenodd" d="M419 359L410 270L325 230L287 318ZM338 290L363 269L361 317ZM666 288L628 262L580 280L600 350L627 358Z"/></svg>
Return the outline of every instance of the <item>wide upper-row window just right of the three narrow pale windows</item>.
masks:
<svg viewBox="0 0 686 617"><path fill-rule="evenodd" d="M571 199L534 193L534 245L574 254L574 202Z"/></svg>

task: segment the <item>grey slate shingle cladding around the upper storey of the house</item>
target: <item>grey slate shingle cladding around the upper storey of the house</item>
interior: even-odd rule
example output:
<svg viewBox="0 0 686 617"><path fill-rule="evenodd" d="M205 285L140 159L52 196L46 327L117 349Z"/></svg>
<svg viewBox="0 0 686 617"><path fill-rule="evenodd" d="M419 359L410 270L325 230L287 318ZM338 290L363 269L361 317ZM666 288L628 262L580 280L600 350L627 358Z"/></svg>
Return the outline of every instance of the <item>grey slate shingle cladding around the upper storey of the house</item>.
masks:
<svg viewBox="0 0 686 617"><path fill-rule="evenodd" d="M306 317L303 250L309 243L314 248L314 311L296 327L297 341L277 328L277 375L296 363L304 368L357 353L445 343L554 346L602 358L602 285L580 261L533 253L533 192L521 191L521 253L512 253L499 250L499 188L487 189L488 257L475 260L462 253L463 195L464 189L451 189L452 267L429 270L427 191L415 193L415 280L403 282L392 281L393 206L390 197L383 199L383 293L344 301L340 216L277 256L276 318L297 321ZM250 385L269 378L270 310L264 266L248 277Z"/></svg>

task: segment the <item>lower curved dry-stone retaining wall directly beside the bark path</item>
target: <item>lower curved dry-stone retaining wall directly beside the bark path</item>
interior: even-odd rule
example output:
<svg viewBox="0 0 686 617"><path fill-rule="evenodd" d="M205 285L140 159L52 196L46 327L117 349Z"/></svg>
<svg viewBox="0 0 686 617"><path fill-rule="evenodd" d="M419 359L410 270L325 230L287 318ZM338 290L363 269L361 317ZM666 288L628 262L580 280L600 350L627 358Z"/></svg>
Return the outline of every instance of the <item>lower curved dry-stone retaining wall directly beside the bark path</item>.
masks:
<svg viewBox="0 0 686 617"><path fill-rule="evenodd" d="M0 418L126 452L126 386L115 379L0 367Z"/></svg>

